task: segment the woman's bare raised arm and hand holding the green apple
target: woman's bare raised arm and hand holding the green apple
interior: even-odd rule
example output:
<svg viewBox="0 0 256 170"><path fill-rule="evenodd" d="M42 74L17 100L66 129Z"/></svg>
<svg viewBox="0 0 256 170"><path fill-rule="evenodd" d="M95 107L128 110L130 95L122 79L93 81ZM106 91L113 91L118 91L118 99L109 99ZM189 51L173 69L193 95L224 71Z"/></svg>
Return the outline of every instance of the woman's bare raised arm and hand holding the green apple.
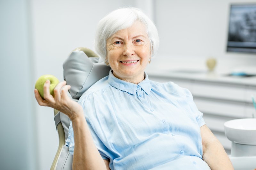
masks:
<svg viewBox="0 0 256 170"><path fill-rule="evenodd" d="M67 91L70 86L66 85L66 82L60 82L54 89L54 98L50 95L50 81L46 81L44 84L44 99L39 95L35 89L35 97L39 105L49 106L61 111L68 115L72 121L72 127L74 130L75 149L72 169L109 169L100 156L100 153L95 146L91 132L84 118L84 111L82 107L72 101Z"/></svg>

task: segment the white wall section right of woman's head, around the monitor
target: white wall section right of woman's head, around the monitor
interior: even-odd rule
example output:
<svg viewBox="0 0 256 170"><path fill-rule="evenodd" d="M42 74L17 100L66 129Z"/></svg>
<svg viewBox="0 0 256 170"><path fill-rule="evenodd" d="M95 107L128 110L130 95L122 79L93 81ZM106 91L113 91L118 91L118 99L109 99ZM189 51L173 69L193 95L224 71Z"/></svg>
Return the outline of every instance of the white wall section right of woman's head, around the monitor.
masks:
<svg viewBox="0 0 256 170"><path fill-rule="evenodd" d="M229 5L238 2L256 1L156 0L158 56L165 63L180 63L180 67L204 68L208 57L217 58L217 69L255 66L255 54L226 52Z"/></svg>

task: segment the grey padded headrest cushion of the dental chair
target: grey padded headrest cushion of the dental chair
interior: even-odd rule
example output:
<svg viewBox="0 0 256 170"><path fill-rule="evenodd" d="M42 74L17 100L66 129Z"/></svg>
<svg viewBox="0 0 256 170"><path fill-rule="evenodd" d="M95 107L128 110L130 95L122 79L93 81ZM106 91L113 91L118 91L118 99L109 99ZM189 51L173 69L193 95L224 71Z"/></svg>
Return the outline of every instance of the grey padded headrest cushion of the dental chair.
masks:
<svg viewBox="0 0 256 170"><path fill-rule="evenodd" d="M107 76L111 69L100 57L87 56L90 55L87 51L92 50L84 49L75 49L63 63L64 80L71 86L69 93L73 99L79 99L94 83Z"/></svg>

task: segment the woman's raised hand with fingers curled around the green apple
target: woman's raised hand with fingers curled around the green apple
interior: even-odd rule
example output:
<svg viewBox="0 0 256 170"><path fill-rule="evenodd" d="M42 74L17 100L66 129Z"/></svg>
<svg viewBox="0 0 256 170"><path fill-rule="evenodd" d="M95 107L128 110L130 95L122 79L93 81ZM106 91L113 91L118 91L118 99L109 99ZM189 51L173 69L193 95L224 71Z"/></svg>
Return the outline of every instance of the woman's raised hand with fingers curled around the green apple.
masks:
<svg viewBox="0 0 256 170"><path fill-rule="evenodd" d="M76 119L83 115L83 108L81 105L72 101L68 95L67 91L71 86L66 85L66 81L60 82L54 88L54 97L50 94L50 81L47 80L44 83L44 99L40 96L37 89L34 90L36 101L40 106L48 106L59 110L60 112L66 114L71 120Z"/></svg>

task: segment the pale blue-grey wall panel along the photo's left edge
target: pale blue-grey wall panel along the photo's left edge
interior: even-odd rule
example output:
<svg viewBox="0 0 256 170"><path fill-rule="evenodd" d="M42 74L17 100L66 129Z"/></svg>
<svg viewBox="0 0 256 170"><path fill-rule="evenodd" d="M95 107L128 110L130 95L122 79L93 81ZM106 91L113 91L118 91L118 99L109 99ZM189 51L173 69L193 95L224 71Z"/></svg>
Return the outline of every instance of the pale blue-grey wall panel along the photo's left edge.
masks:
<svg viewBox="0 0 256 170"><path fill-rule="evenodd" d="M0 169L37 168L33 58L26 0L0 1Z"/></svg>

